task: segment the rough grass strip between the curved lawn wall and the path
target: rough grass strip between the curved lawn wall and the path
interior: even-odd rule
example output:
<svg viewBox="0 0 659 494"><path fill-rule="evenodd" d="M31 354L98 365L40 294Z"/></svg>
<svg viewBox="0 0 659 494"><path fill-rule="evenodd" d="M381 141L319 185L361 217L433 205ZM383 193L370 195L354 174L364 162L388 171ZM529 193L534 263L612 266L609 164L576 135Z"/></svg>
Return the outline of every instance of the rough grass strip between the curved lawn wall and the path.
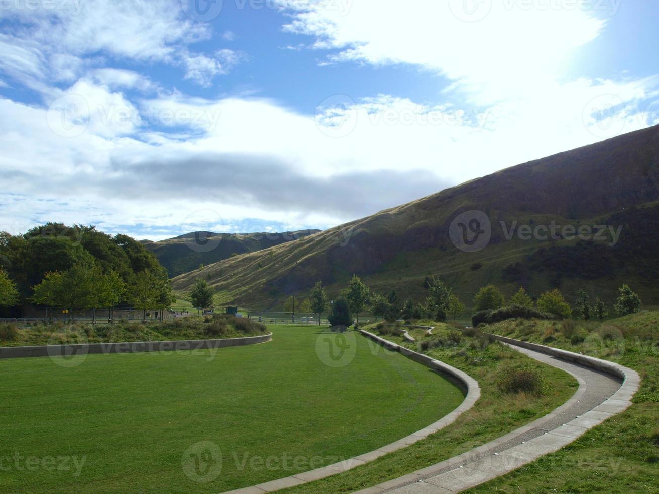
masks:
<svg viewBox="0 0 659 494"><path fill-rule="evenodd" d="M436 326L433 335L416 343L404 343L397 332L391 335L385 332L385 337L429 354L474 377L481 391L476 405L453 424L418 443L343 474L287 489L286 493L350 493L395 479L470 451L517 427L529 424L563 404L577 391L579 383L564 371L532 360L498 342L490 343L482 335L460 336L460 333L443 323L423 322L426 323ZM378 329L372 325L368 331L378 332ZM424 343L430 343L430 350L423 350ZM511 368L541 371L546 386L544 393L502 393L497 386L498 380L507 375Z"/></svg>

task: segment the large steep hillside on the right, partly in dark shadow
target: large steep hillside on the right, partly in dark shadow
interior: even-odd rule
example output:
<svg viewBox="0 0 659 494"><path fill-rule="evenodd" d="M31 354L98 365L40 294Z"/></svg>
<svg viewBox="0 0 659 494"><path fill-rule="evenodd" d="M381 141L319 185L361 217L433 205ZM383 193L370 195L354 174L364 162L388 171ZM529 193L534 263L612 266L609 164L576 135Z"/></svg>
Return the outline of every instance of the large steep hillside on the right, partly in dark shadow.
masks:
<svg viewBox="0 0 659 494"><path fill-rule="evenodd" d="M473 210L489 219L491 238L482 250L463 252L449 231L458 215ZM420 298L424 278L434 274L468 304L487 283L497 283L507 295L519 285L532 296L559 287L568 298L583 287L612 302L625 282L646 304L657 305L658 218L659 126L654 126L208 265L175 278L173 287L185 292L203 277L223 300L271 308L290 294L306 294L318 279L336 293L353 273L374 290L393 288L400 296ZM552 225L568 229L554 238L522 239L529 229ZM612 229L590 239L570 234L570 228L596 225ZM478 225L467 221L463 228L471 226Z"/></svg>

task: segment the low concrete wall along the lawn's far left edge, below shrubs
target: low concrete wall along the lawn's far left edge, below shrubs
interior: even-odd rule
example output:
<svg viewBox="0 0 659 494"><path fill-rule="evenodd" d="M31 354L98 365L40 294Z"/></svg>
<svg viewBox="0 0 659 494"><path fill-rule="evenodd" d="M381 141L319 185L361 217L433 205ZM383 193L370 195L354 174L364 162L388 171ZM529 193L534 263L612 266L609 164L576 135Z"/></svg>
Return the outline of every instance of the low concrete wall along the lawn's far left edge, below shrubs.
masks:
<svg viewBox="0 0 659 494"><path fill-rule="evenodd" d="M75 354L122 354L141 352L172 352L183 350L208 350L229 348L248 344L266 343L272 340L272 333L245 338L225 338L219 340L187 341L139 341L131 343L80 343L42 346L6 346L0 348L0 359L49 357Z"/></svg>

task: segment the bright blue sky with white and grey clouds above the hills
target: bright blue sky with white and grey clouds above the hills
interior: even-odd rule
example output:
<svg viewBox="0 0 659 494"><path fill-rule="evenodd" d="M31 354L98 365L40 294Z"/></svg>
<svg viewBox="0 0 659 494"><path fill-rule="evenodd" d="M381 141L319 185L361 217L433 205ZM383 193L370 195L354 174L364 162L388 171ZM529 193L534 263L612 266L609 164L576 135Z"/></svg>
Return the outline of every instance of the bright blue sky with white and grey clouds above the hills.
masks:
<svg viewBox="0 0 659 494"><path fill-rule="evenodd" d="M0 0L0 231L326 229L659 124L638 0Z"/></svg>

